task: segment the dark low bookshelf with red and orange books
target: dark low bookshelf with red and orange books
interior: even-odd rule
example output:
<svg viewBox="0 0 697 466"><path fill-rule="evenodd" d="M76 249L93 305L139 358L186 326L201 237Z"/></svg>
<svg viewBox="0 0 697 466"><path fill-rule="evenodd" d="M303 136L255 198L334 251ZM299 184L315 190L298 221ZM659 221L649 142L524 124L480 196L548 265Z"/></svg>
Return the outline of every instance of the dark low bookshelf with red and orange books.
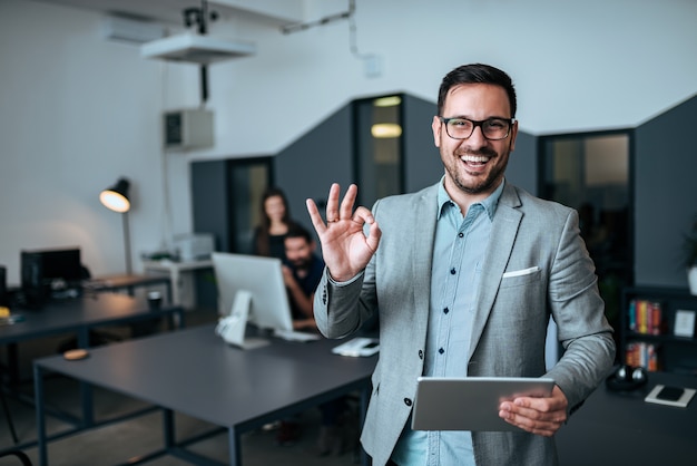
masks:
<svg viewBox="0 0 697 466"><path fill-rule="evenodd" d="M625 288L621 310L621 362L697 376L697 295L674 288Z"/></svg>

